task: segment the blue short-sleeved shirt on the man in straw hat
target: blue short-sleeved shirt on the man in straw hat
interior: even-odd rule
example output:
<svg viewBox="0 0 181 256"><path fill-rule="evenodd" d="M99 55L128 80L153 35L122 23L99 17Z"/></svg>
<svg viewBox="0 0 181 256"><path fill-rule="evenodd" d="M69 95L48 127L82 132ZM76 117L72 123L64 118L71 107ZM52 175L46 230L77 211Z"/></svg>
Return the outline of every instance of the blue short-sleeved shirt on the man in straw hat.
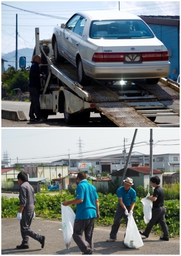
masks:
<svg viewBox="0 0 181 256"><path fill-rule="evenodd" d="M132 202L137 202L137 193L133 188L130 188L128 191L124 186L119 187L116 193L118 198L122 198L125 206L130 206ZM118 202L119 204L119 202Z"/></svg>

